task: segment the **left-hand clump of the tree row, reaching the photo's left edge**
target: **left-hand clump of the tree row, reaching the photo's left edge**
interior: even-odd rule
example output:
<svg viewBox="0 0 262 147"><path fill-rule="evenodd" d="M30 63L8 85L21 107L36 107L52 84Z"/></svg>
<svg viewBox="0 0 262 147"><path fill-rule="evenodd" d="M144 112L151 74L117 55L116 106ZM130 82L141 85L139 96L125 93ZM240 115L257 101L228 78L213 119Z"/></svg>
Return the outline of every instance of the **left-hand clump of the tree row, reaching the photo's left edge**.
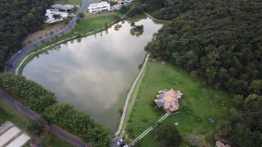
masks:
<svg viewBox="0 0 262 147"><path fill-rule="evenodd" d="M36 112L43 113L45 108L57 103L57 97L53 92L20 75L14 76L10 73L1 74L0 88L21 98L29 108Z"/></svg>

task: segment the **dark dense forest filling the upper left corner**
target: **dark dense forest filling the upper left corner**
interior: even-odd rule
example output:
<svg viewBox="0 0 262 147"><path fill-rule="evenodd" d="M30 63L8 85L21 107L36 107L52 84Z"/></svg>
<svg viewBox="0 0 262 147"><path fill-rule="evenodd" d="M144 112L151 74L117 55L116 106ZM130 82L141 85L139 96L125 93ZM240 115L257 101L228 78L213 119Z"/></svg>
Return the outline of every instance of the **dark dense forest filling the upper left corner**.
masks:
<svg viewBox="0 0 262 147"><path fill-rule="evenodd" d="M53 0L1 0L0 70L8 57L21 49L21 41L43 23L46 9Z"/></svg>

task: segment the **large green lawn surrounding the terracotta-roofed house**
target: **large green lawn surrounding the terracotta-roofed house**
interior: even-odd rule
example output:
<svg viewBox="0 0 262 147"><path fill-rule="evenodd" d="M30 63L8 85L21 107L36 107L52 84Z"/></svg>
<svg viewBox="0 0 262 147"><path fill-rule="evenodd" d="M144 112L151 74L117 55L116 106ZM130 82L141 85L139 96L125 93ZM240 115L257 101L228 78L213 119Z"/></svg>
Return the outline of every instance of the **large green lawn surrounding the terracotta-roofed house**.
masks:
<svg viewBox="0 0 262 147"><path fill-rule="evenodd" d="M125 128L125 132L132 138L139 136L165 114L152 103L159 90L173 88L183 93L183 98L179 100L180 113L170 115L164 120L173 126L174 122L179 123L177 128L183 136L182 146L190 145L185 139L188 135L194 135L199 146L203 144L211 146L212 142L207 138L212 138L216 132L216 125L219 121L227 119L230 116L230 108L235 107L228 92L206 85L202 79L192 77L171 63L161 64L160 61L153 59L148 61L143 79L138 86L132 95L131 101L134 101L134 106ZM210 123L209 118L215 122ZM149 133L139 141L139 145L159 146L159 143L154 141Z"/></svg>

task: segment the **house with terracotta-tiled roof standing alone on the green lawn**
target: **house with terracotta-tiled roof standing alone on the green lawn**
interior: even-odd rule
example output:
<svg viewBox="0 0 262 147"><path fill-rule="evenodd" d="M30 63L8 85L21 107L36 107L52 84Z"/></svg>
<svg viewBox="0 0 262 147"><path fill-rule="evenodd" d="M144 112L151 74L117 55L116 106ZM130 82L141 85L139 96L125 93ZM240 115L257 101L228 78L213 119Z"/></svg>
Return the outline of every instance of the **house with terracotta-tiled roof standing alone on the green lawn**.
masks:
<svg viewBox="0 0 262 147"><path fill-rule="evenodd" d="M179 90L165 89L159 91L159 95L157 95L157 99L154 101L157 103L157 106L169 110L170 112L175 112L179 110L179 99L181 99L182 95L183 94Z"/></svg>

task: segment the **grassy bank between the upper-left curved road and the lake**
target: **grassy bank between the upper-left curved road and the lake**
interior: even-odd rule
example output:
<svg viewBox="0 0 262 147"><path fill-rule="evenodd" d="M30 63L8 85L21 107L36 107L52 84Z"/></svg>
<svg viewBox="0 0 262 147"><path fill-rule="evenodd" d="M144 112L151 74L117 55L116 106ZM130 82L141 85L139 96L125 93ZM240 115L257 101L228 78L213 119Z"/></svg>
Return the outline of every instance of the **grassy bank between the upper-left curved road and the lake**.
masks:
<svg viewBox="0 0 262 147"><path fill-rule="evenodd" d="M108 13L108 12L106 12ZM55 39L52 39L51 41L43 42L40 46L36 46L34 49L30 50L20 61L19 63L28 55L30 55L32 52L35 52L33 55L30 55L21 67L18 69L18 74L22 75L23 68L26 67L26 64L28 64L34 57L37 57L41 53L44 53L55 46L59 46L62 43L66 43L68 41L71 41L73 39L86 37L88 35L94 35L97 32L101 32L105 30L105 23L108 24L108 27L112 26L114 23L114 17L123 17L124 14L121 14L120 12L110 12L110 14L104 15L103 12L99 14L96 14L97 17L86 17L84 19L81 19L80 23L77 24L74 30L68 32L67 34L62 35L61 37L57 37ZM46 48L48 47L48 48ZM44 48L44 49L43 49Z"/></svg>

